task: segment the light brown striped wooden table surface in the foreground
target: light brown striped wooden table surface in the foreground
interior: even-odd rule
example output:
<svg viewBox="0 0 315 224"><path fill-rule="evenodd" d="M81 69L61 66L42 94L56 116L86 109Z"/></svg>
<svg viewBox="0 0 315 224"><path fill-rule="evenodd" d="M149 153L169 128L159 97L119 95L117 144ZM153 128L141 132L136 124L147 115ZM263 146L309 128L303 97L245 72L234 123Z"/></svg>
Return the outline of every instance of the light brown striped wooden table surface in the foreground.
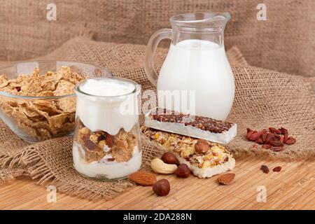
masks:
<svg viewBox="0 0 315 224"><path fill-rule="evenodd" d="M260 171L283 167L281 172ZM151 187L135 186L113 200L89 201L57 192L57 202L48 203L47 190L27 177L0 184L0 209L315 209L315 161L284 162L266 158L237 160L235 181L219 186L211 179L167 178L172 190L157 197ZM258 202L259 190L267 190L267 202Z"/></svg>

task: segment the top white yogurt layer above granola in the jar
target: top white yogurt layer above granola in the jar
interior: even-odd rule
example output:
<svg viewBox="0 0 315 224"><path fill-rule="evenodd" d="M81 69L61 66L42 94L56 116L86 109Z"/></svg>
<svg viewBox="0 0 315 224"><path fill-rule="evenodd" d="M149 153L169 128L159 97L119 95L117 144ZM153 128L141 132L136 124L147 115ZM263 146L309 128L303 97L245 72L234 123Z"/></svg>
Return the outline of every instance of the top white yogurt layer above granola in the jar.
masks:
<svg viewBox="0 0 315 224"><path fill-rule="evenodd" d="M121 128L130 132L138 123L139 88L133 83L115 78L87 79L79 89L76 116L92 132L115 135Z"/></svg>

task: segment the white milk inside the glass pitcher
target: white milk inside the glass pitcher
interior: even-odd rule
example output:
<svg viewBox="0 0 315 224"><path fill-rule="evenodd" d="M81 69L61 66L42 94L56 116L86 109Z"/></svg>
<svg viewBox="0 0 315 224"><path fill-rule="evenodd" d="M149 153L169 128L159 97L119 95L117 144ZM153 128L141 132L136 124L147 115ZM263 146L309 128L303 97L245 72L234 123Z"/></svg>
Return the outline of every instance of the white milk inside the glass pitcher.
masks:
<svg viewBox="0 0 315 224"><path fill-rule="evenodd" d="M225 120L232 108L235 81L224 45L199 39L171 44L160 70L158 90L195 90L195 101L188 99L195 104L189 105L195 106L195 115ZM170 104L160 105L159 91L159 106L172 109Z"/></svg>

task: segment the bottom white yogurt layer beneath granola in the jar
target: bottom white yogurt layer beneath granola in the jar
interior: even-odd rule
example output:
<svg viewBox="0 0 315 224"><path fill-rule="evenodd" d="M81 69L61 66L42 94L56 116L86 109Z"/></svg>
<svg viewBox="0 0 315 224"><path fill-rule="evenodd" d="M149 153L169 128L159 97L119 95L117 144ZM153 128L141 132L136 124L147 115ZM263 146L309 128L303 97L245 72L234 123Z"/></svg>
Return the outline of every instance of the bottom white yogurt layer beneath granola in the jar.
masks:
<svg viewBox="0 0 315 224"><path fill-rule="evenodd" d="M141 152L138 146L134 146L132 158L127 162L107 161L111 155L107 154L100 162L85 162L81 158L79 151L84 151L80 144L73 144L73 166L77 172L85 176L102 178L102 179L119 179L134 172L137 172L141 167Z"/></svg>

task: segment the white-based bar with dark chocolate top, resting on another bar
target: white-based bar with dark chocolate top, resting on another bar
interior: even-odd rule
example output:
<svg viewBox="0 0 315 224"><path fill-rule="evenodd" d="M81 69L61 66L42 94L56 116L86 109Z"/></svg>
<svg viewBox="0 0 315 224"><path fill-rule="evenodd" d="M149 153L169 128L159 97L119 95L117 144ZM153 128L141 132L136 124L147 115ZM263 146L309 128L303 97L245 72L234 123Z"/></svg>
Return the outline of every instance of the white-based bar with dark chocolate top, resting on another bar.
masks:
<svg viewBox="0 0 315 224"><path fill-rule="evenodd" d="M237 124L203 116L190 116L167 109L153 109L145 116L144 124L165 132L183 134L220 144L228 144L237 134Z"/></svg>

